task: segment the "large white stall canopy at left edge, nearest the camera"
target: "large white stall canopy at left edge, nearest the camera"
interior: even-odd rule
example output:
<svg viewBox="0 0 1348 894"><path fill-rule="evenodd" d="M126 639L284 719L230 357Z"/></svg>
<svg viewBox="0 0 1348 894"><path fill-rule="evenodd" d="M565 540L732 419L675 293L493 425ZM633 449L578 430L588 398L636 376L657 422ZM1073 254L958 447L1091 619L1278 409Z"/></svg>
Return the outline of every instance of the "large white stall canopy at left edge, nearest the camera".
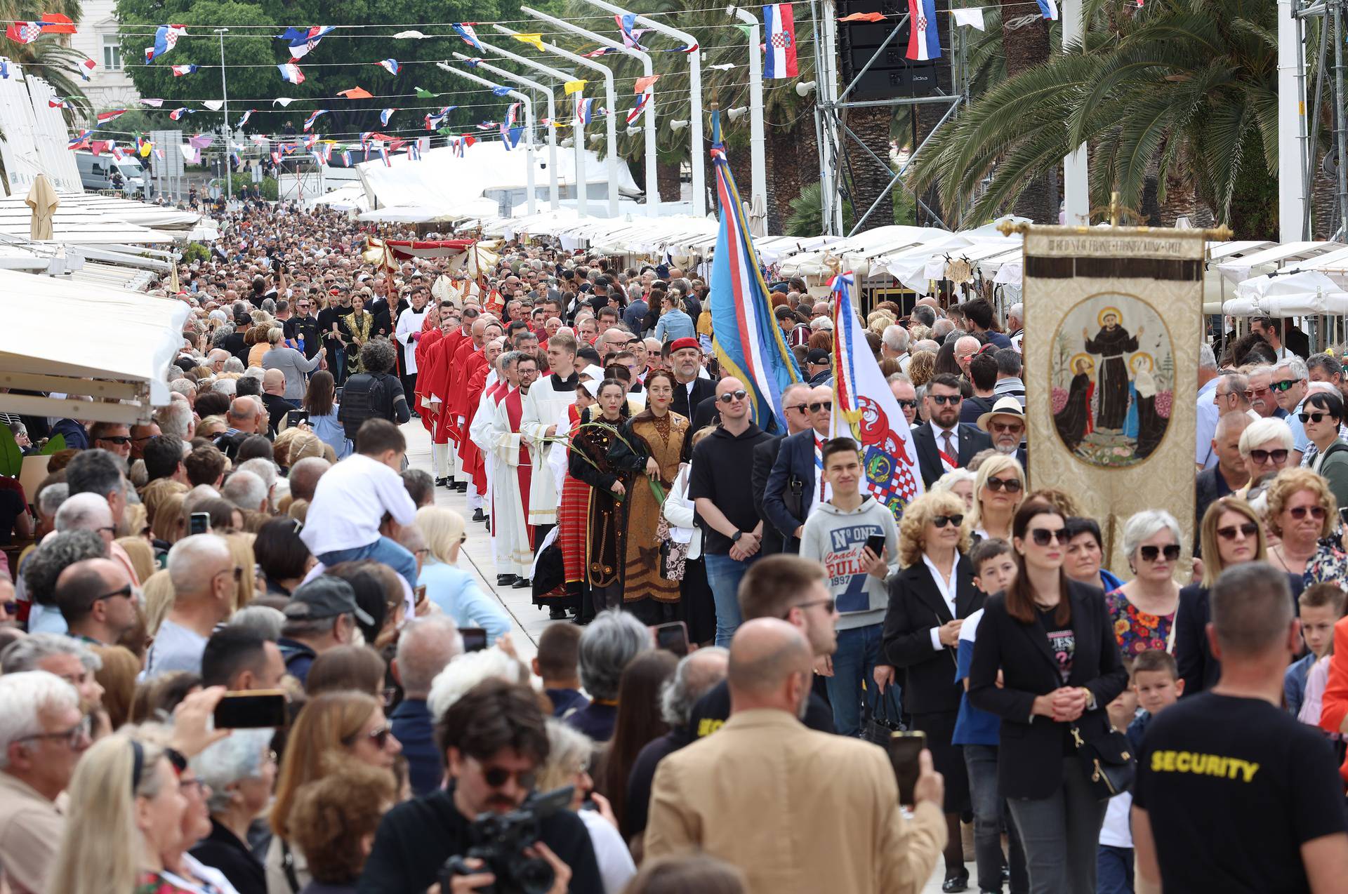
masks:
<svg viewBox="0 0 1348 894"><path fill-rule="evenodd" d="M94 399L0 393L0 411L148 419L151 407L168 403L164 373L182 347L187 315L174 299L0 269L0 386Z"/></svg>

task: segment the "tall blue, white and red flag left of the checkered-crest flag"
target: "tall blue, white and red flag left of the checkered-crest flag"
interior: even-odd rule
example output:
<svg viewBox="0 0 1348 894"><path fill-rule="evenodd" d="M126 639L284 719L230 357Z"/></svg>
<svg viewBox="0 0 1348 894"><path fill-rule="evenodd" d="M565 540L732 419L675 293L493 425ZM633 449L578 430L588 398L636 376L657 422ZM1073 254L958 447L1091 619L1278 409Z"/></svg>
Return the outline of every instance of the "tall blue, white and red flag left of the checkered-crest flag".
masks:
<svg viewBox="0 0 1348 894"><path fill-rule="evenodd" d="M721 372L744 382L754 421L764 431L786 431L782 390L802 381L795 354L782 337L767 298L767 283L749 240L748 214L721 145L721 117L712 113L712 164L721 205L721 229L712 259L712 349Z"/></svg>

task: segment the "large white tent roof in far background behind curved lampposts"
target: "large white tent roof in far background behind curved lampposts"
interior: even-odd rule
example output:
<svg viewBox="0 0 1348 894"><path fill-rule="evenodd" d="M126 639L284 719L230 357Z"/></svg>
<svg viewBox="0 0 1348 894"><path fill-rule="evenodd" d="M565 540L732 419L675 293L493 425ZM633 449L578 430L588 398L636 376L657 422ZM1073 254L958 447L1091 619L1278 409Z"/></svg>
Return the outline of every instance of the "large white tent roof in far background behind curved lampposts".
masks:
<svg viewBox="0 0 1348 894"><path fill-rule="evenodd" d="M597 152L585 149L584 171L586 184L608 183L608 162ZM547 152L534 152L534 188L539 201L547 193L549 172ZM363 162L356 166L365 191L379 205L419 206L439 214L458 214L460 209L473 199L480 199L488 191L524 190L528 178L528 152L523 145L507 151L500 141L479 143L458 158L449 147L422 152L421 160L411 160L399 152L390 158ZM627 195L640 195L640 187L632 179L627 163L619 160L619 191ZM561 186L576 186L576 153L572 149L557 151L557 178ZM589 197L592 214L601 213L601 202Z"/></svg>

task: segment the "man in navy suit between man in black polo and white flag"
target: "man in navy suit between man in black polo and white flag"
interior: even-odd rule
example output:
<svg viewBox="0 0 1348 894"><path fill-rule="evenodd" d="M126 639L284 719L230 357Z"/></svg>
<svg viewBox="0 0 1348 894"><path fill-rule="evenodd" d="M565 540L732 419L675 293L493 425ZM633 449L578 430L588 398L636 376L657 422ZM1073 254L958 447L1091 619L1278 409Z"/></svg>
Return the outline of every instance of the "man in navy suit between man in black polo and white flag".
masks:
<svg viewBox="0 0 1348 894"><path fill-rule="evenodd" d="M785 403L785 399L783 399ZM799 552L805 518L832 495L824 481L824 442L833 416L833 388L817 385L797 403L810 428L787 436L763 487L763 518L782 536L783 552Z"/></svg>

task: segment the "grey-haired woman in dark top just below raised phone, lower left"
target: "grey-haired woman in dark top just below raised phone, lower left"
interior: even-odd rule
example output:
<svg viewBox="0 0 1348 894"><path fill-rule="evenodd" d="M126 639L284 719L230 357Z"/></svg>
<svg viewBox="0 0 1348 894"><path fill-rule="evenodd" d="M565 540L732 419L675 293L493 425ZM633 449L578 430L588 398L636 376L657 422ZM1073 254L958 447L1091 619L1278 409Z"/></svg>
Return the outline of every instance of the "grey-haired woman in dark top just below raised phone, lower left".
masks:
<svg viewBox="0 0 1348 894"><path fill-rule="evenodd" d="M267 872L248 847L248 827L271 802L276 781L271 738L271 730L235 730L190 761L210 788L210 835L189 852L224 872L239 894L267 894Z"/></svg>

